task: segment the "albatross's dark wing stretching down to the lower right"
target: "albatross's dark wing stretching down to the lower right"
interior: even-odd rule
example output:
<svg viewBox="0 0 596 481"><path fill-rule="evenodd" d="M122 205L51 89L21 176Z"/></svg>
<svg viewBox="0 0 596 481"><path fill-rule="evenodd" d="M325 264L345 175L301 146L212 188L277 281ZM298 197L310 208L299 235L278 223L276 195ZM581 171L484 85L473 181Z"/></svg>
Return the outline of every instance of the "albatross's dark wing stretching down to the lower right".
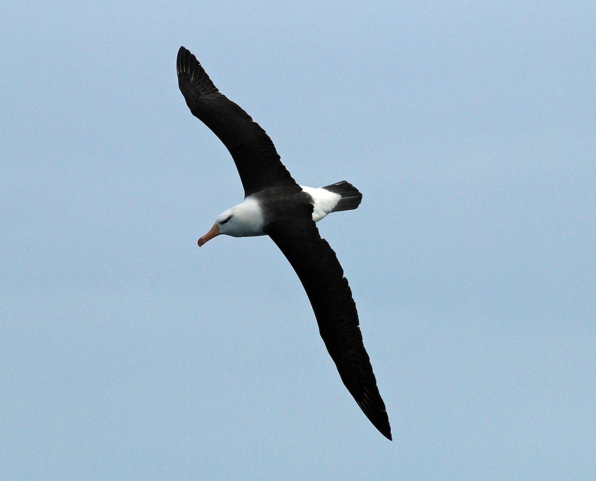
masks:
<svg viewBox="0 0 596 481"><path fill-rule="evenodd" d="M298 274L347 390L371 423L391 439L389 417L362 343L356 304L342 266L312 218L301 217L274 221L264 230Z"/></svg>

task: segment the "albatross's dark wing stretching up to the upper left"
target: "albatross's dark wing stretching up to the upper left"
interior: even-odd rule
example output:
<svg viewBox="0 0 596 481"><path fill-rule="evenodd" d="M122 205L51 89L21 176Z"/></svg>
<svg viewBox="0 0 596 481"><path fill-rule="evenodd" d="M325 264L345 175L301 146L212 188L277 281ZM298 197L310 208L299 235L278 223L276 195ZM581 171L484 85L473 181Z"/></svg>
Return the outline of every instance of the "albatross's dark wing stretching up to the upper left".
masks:
<svg viewBox="0 0 596 481"><path fill-rule="evenodd" d="M178 51L176 70L178 86L188 108L232 154L244 195L268 187L297 187L265 130L238 105L219 93L197 58L184 47Z"/></svg>

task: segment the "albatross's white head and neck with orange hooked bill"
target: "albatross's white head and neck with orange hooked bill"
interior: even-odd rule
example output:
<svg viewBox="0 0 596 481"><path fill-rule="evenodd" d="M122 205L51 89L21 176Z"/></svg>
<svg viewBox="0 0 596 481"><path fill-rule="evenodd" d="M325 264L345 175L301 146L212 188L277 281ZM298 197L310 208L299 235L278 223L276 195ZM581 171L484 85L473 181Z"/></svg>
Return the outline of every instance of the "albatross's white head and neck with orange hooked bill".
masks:
<svg viewBox="0 0 596 481"><path fill-rule="evenodd" d="M219 214L211 230L198 239L198 246L202 246L219 234L232 237L265 235L261 230L262 223L263 217L259 203L247 197L240 204L234 205L234 207Z"/></svg>

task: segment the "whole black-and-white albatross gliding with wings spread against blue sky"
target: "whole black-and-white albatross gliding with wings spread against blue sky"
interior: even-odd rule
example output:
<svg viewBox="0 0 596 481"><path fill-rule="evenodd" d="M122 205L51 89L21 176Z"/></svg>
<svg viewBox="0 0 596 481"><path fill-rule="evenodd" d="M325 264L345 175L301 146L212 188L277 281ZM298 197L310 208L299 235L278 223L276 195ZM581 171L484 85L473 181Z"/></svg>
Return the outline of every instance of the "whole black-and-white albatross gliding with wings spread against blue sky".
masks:
<svg viewBox="0 0 596 481"><path fill-rule="evenodd" d="M219 92L191 52L181 47L176 64L188 108L232 154L244 187L244 200L220 214L198 245L219 234L268 235L275 242L302 282L344 385L371 423L391 439L352 291L335 252L315 226L331 212L358 207L362 194L345 181L318 189L299 186L265 130Z"/></svg>

